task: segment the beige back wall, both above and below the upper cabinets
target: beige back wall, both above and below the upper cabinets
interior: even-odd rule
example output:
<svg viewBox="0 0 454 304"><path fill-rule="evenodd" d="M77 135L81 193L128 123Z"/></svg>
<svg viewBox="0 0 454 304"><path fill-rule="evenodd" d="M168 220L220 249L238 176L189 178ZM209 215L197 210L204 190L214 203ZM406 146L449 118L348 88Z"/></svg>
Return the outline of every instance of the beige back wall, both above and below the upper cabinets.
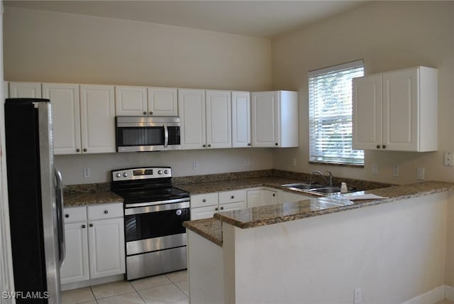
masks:
<svg viewBox="0 0 454 304"><path fill-rule="evenodd" d="M12 81L271 88L268 39L8 6L4 63L5 79ZM193 170L193 161L199 162L199 170ZM56 164L65 185L72 185L109 182L110 170L138 165L172 165L175 176L270 169L272 151L56 156ZM91 178L83 178L83 168L91 169Z"/></svg>

